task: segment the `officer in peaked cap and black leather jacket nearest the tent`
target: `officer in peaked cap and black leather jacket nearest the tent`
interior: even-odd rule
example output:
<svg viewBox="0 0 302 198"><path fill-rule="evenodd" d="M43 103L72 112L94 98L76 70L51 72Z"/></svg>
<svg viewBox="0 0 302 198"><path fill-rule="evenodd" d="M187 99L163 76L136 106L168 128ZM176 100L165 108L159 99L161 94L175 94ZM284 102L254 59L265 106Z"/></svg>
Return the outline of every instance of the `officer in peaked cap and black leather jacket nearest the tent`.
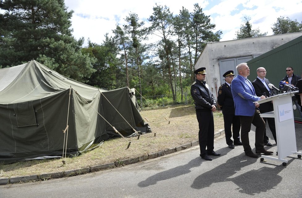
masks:
<svg viewBox="0 0 302 198"><path fill-rule="evenodd" d="M211 88L204 81L207 74L205 69L202 67L194 71L196 80L191 85L191 96L195 101L196 117L199 125L200 156L211 161L212 158L209 155L219 156L220 154L214 151L213 112L216 111L216 101Z"/></svg>

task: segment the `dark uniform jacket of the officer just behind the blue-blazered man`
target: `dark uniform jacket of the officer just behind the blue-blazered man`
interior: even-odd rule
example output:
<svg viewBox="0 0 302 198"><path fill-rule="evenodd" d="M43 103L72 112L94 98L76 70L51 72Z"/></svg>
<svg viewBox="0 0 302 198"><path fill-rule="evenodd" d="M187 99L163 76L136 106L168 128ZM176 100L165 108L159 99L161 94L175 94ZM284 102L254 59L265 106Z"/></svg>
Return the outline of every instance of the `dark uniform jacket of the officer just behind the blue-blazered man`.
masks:
<svg viewBox="0 0 302 198"><path fill-rule="evenodd" d="M222 108L223 114L235 114L231 87L227 83L224 83L219 87L217 102L220 108Z"/></svg>

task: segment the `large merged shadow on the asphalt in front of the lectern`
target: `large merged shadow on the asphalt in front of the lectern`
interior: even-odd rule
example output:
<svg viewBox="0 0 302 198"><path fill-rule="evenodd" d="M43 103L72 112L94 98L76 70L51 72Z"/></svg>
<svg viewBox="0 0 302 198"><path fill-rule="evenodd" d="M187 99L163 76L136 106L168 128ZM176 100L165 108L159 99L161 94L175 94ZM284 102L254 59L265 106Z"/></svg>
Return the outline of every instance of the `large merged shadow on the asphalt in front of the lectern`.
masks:
<svg viewBox="0 0 302 198"><path fill-rule="evenodd" d="M231 181L239 186L237 189L238 192L255 195L274 188L282 181L282 177L278 175L280 171L286 168L282 164L276 165L274 168L261 167L257 170L253 169L232 177L240 173L241 168L257 163L256 161L259 161L259 158L249 158L244 153L235 156L227 160L226 163L213 168L211 171L199 175L191 187L202 189L209 187L213 183ZM291 163L291 161L289 160L287 164Z"/></svg>

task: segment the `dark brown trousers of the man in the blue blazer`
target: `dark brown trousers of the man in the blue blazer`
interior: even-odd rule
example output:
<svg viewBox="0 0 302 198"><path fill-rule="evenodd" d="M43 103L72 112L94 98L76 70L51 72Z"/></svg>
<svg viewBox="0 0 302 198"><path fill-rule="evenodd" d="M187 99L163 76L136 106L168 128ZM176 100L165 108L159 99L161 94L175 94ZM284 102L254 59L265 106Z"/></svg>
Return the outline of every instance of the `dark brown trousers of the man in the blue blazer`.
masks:
<svg viewBox="0 0 302 198"><path fill-rule="evenodd" d="M241 122L241 142L245 153L252 151L250 146L249 132L252 124L256 126L255 130L255 147L256 151L263 149L263 134L265 130L265 122L260 117L260 111L255 109L253 116L240 116Z"/></svg>

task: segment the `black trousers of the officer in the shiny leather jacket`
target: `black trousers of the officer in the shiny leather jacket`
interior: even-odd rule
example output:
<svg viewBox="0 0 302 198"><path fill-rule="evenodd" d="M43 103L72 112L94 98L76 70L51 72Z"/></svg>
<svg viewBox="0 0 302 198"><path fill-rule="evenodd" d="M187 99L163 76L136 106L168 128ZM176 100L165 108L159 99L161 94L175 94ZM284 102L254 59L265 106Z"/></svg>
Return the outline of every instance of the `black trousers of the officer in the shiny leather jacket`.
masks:
<svg viewBox="0 0 302 198"><path fill-rule="evenodd" d="M196 111L198 120L199 133L199 147L201 156L207 155L214 149L214 119L213 113L209 111ZM207 148L207 149L206 149Z"/></svg>

